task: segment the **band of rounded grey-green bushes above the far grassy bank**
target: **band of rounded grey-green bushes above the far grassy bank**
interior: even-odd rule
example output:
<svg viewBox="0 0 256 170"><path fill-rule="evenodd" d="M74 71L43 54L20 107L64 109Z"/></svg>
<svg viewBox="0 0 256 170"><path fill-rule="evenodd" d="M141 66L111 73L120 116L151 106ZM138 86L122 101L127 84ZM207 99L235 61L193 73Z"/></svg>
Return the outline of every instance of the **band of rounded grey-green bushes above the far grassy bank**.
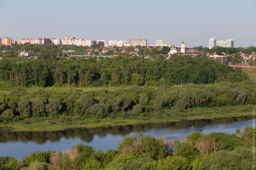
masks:
<svg viewBox="0 0 256 170"><path fill-rule="evenodd" d="M196 107L256 104L254 82L220 82L217 85L185 84L182 87L131 86L116 90L83 91L71 88L15 90L0 94L0 119L24 121L30 117L56 117L66 123L81 118L122 117L150 119L184 114Z"/></svg>

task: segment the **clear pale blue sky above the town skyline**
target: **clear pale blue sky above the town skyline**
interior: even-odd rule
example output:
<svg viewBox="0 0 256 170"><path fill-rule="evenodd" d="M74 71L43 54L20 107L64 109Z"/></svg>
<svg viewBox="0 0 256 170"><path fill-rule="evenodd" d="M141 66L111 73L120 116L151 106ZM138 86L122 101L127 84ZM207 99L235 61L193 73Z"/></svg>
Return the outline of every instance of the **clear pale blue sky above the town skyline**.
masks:
<svg viewBox="0 0 256 170"><path fill-rule="evenodd" d="M0 0L0 37L129 40L208 47L256 46L255 0Z"/></svg>

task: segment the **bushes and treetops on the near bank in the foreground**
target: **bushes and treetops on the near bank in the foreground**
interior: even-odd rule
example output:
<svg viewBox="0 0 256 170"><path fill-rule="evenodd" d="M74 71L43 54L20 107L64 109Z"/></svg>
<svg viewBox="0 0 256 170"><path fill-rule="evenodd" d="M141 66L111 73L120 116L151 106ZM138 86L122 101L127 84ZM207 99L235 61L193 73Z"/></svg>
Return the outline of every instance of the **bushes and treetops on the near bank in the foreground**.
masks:
<svg viewBox="0 0 256 170"><path fill-rule="evenodd" d="M124 137L117 149L103 152L78 144L64 152L37 151L22 160L0 156L3 170L251 170L252 127L236 134L194 132L186 139L168 140L135 135Z"/></svg>

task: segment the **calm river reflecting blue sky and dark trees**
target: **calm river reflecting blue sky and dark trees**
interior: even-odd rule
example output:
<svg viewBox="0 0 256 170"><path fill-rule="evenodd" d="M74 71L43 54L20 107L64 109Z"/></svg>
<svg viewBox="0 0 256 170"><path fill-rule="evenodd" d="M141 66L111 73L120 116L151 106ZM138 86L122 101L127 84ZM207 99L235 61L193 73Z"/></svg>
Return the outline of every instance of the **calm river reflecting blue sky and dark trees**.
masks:
<svg viewBox="0 0 256 170"><path fill-rule="evenodd" d="M224 132L234 134L236 129L250 126L252 117L228 117L218 119L182 120L177 122L145 123L98 128L72 128L63 131L8 132L0 129L0 156L22 159L36 150L66 150L78 143L94 149L114 149L123 137L138 133L168 139L184 138L192 132L204 134Z"/></svg>

